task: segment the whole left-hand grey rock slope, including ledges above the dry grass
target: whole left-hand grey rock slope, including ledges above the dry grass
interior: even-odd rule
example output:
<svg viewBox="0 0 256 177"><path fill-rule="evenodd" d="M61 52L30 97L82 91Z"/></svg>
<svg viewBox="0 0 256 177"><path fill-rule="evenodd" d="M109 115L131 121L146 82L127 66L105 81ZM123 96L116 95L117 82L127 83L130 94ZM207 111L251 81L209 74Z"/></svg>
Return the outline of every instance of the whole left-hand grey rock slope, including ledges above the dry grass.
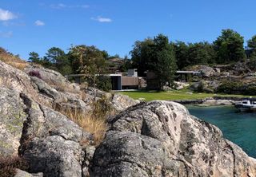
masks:
<svg viewBox="0 0 256 177"><path fill-rule="evenodd" d="M103 96L118 112L138 103L106 92L97 99ZM18 176L89 176L93 135L53 108L90 112L92 100L90 92L50 69L28 66L24 73L0 61L0 155L26 159L30 174L18 170Z"/></svg>

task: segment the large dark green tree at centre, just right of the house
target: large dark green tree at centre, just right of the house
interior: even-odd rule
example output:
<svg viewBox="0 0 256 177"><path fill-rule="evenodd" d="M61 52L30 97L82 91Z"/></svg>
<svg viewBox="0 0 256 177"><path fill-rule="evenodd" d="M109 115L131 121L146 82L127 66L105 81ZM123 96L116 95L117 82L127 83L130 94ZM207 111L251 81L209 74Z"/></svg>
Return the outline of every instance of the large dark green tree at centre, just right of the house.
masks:
<svg viewBox="0 0 256 177"><path fill-rule="evenodd" d="M163 89L167 82L170 84L174 81L177 65L174 49L168 37L159 34L154 39L135 41L134 49L130 54L139 74L145 71L154 73L154 84L158 89ZM153 85L153 82L148 82L148 85L149 83Z"/></svg>

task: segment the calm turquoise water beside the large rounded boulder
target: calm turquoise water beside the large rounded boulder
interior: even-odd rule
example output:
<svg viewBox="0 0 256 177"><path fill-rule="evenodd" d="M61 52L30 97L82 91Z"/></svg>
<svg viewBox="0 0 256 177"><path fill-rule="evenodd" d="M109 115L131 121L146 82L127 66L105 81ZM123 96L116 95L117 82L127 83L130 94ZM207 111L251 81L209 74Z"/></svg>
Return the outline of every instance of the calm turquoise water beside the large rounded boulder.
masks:
<svg viewBox="0 0 256 177"><path fill-rule="evenodd" d="M216 125L226 139L256 158L256 113L236 112L233 107L188 106L191 115Z"/></svg>

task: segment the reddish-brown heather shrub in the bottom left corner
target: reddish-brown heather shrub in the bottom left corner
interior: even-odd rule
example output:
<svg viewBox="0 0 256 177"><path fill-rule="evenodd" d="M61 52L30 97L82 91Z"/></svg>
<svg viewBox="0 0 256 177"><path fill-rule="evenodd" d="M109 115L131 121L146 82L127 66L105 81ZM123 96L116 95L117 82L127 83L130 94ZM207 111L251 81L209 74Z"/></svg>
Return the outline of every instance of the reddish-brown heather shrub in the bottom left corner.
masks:
<svg viewBox="0 0 256 177"><path fill-rule="evenodd" d="M18 156L0 157L0 176L12 177L16 175L16 168L26 171L26 160Z"/></svg>

